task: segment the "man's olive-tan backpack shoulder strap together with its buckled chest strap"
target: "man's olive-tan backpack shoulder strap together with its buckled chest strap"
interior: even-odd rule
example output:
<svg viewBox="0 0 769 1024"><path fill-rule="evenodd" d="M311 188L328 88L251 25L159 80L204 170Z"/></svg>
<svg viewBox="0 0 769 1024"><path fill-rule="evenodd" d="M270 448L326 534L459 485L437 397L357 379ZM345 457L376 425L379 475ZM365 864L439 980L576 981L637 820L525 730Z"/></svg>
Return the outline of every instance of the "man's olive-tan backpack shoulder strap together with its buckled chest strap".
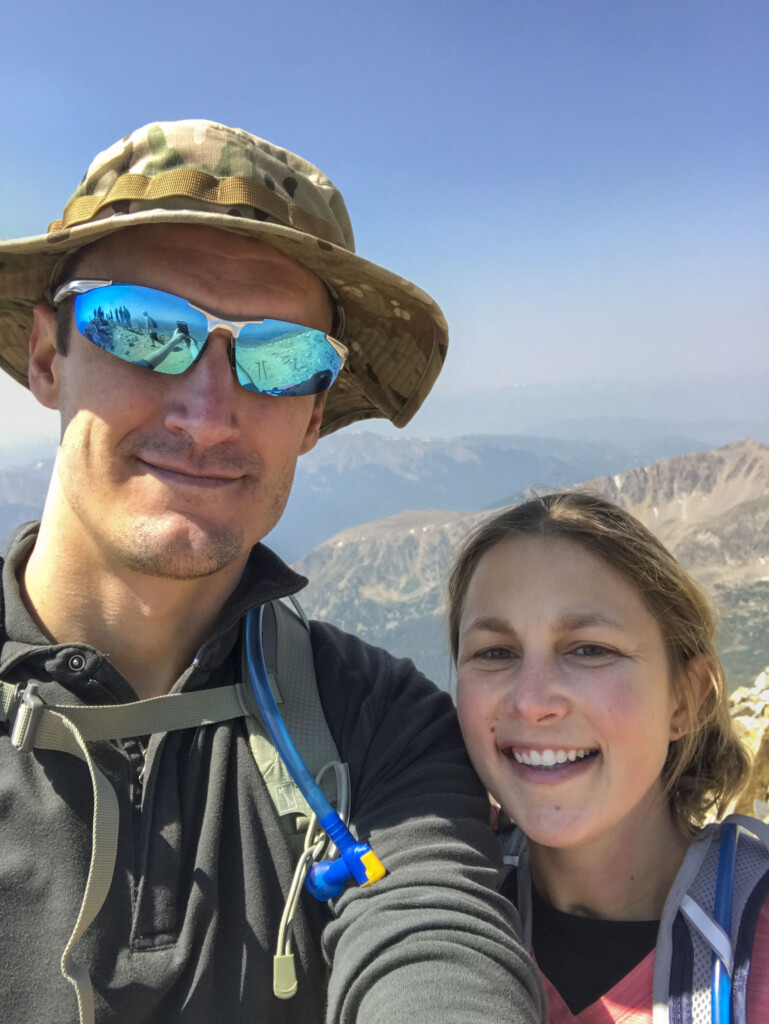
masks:
<svg viewBox="0 0 769 1024"><path fill-rule="evenodd" d="M265 612L270 609L271 613L265 615L267 673L286 725L315 775L328 762L338 761L339 756L317 693L309 624L301 608L293 611L272 602L265 606ZM279 758L258 714L245 664L242 681L233 686L169 693L126 705L46 705L36 683L23 687L0 680L0 722L8 724L11 743L19 752L37 748L72 754L85 762L91 777L91 859L80 911L60 963L62 975L75 988L81 1024L94 1024L93 986L88 972L73 953L110 891L120 827L115 791L91 757L88 741L126 739L245 718L249 745L296 860L309 821L309 807ZM335 773L328 776L333 779Z"/></svg>

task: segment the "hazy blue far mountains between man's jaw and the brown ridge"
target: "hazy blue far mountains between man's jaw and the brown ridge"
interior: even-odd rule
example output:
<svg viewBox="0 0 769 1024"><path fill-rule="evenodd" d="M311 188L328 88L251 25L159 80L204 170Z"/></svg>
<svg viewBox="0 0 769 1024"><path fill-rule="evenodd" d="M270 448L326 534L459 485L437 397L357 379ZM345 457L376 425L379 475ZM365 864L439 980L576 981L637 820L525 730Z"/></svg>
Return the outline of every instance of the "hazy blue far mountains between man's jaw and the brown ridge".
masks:
<svg viewBox="0 0 769 1024"><path fill-rule="evenodd" d="M708 446L673 434L621 443L514 435L425 440L342 431L299 460L289 504L268 543L291 560L340 529L403 509L472 512L505 504L525 487L568 486Z"/></svg>

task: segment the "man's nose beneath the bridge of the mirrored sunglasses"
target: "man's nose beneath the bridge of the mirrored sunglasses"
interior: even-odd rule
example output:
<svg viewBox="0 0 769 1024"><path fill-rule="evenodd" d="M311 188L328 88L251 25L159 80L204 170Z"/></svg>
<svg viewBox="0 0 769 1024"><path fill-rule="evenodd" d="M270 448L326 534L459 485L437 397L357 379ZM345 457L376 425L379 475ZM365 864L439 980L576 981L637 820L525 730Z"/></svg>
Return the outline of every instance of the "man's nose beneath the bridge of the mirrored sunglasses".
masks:
<svg viewBox="0 0 769 1024"><path fill-rule="evenodd" d="M166 426L183 432L197 444L234 440L240 434L238 399L242 388L230 361L232 335L213 331L198 362L178 377L167 377L169 401Z"/></svg>

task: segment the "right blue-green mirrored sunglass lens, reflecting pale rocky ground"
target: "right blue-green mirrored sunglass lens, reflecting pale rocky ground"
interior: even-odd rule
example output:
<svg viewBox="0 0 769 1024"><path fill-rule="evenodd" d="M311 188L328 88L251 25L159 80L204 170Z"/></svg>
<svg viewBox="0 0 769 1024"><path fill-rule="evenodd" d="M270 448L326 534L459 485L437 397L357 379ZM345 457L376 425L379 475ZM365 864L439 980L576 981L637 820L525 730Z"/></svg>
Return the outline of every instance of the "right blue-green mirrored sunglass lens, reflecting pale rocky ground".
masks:
<svg viewBox="0 0 769 1024"><path fill-rule="evenodd" d="M322 331L282 321L244 327L234 351L238 380L261 394L319 394L342 368L339 353Z"/></svg>

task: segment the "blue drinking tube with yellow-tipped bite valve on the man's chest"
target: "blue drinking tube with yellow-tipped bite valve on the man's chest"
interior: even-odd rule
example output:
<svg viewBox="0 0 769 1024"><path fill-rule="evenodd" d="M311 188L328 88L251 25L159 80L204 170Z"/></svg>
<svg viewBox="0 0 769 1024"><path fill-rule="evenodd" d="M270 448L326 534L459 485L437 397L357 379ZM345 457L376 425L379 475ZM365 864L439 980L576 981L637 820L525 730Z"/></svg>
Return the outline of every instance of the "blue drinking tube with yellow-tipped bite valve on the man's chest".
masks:
<svg viewBox="0 0 769 1024"><path fill-rule="evenodd" d="M373 885L384 878L384 865L370 846L357 842L331 806L281 718L264 665L261 607L252 609L246 616L246 655L251 685L270 739L321 827L339 851L339 860L322 860L310 868L305 882L307 889L315 899L327 900L339 896L350 879L360 886Z"/></svg>

